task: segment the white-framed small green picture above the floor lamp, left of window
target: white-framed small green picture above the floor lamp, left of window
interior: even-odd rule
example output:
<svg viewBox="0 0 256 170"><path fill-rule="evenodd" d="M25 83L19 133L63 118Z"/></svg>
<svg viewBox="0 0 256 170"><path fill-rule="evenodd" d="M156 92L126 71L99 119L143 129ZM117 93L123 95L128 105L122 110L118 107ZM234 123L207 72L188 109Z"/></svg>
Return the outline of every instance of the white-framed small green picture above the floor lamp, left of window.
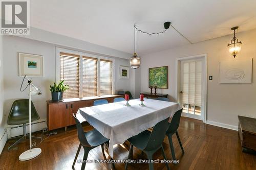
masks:
<svg viewBox="0 0 256 170"><path fill-rule="evenodd" d="M43 77L43 60L41 55L18 53L19 76Z"/></svg>

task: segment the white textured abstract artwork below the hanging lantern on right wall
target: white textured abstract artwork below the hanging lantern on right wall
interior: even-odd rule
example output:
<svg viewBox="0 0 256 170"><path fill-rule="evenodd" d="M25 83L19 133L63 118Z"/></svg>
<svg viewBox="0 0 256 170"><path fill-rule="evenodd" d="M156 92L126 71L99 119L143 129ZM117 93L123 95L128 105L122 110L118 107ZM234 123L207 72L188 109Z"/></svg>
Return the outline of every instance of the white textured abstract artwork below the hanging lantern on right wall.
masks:
<svg viewBox="0 0 256 170"><path fill-rule="evenodd" d="M220 62L220 83L251 83L252 58Z"/></svg>

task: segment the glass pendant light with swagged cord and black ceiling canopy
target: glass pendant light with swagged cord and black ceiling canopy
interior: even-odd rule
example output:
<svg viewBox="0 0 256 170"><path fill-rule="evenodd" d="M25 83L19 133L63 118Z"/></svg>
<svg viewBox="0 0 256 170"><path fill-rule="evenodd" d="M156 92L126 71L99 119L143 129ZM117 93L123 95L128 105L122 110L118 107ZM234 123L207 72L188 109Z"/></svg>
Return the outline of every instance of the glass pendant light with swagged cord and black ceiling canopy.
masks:
<svg viewBox="0 0 256 170"><path fill-rule="evenodd" d="M136 54L136 37L135 37L136 36L136 34L135 34L136 30L140 31L142 33L148 34L148 35L162 34L162 33L164 33L170 27L170 22L164 22L163 26L164 26L165 30L162 31L162 32L159 32L159 33L147 33L147 32L144 32L142 30L137 29L136 24L134 24L134 54L130 58L130 65L131 65L131 67L133 69L137 69L137 68L140 67L140 57Z"/></svg>

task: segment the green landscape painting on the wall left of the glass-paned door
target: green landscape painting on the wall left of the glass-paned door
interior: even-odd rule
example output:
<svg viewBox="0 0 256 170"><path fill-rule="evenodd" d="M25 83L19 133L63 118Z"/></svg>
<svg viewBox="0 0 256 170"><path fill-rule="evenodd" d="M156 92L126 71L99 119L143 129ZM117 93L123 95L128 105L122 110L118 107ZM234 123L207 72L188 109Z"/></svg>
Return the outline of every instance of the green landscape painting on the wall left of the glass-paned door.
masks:
<svg viewBox="0 0 256 170"><path fill-rule="evenodd" d="M168 88L168 66L148 68L148 87Z"/></svg>

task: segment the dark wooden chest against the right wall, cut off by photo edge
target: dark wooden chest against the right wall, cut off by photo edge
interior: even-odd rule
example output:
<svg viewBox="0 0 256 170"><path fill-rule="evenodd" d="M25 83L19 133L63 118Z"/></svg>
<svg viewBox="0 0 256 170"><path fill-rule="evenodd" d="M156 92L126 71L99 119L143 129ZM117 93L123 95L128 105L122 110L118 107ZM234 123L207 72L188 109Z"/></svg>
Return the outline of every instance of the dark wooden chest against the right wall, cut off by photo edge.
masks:
<svg viewBox="0 0 256 170"><path fill-rule="evenodd" d="M256 152L256 118L238 116L238 132L243 152Z"/></svg>

